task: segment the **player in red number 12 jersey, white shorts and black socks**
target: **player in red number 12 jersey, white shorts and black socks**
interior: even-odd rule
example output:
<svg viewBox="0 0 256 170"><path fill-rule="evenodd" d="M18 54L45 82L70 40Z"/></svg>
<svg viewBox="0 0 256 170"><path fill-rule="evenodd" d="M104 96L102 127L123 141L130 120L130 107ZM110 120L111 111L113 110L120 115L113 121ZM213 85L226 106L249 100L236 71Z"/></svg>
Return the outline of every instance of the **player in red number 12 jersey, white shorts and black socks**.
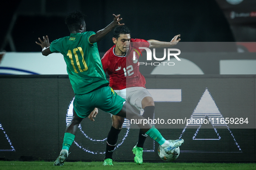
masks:
<svg viewBox="0 0 256 170"><path fill-rule="evenodd" d="M107 72L110 76L110 87L138 110L144 110L143 117L146 119L153 118L155 104L151 94L146 90L146 80L139 72L139 56L136 56L136 60L134 60L131 50L139 47L172 47L181 40L179 37L180 35L176 35L170 42L133 39L130 38L130 30L126 26L120 25L114 29L112 40L115 45L113 45L101 59L104 72ZM123 117L112 115L112 127L107 136L104 165L113 165L113 150L117 143L123 122ZM134 161L136 164L143 163L143 144L146 137L146 133L140 129L138 143L133 148L133 154L135 154Z"/></svg>

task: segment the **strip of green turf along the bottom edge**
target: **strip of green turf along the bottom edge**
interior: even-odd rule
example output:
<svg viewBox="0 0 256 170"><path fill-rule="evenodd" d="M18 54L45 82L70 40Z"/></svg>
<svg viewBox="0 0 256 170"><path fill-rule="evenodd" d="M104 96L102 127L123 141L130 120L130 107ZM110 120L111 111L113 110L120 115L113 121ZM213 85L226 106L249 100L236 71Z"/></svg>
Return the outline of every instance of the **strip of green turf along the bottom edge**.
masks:
<svg viewBox="0 0 256 170"><path fill-rule="evenodd" d="M65 162L64 166L53 166L53 162L0 161L0 170L255 170L256 164L221 163L143 163L113 162L114 166L103 166L103 162Z"/></svg>

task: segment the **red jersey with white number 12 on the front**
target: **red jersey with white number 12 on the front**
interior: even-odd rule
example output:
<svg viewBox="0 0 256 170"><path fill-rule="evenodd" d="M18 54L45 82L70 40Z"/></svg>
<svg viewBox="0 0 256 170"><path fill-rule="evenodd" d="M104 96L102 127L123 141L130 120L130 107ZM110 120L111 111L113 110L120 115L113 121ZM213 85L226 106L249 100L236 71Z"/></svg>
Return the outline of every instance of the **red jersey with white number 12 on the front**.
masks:
<svg viewBox="0 0 256 170"><path fill-rule="evenodd" d="M117 56L114 53L116 45L111 47L102 57L101 63L104 72L110 76L110 87L114 90L122 90L129 87L145 87L146 80L139 72L139 47L149 47L149 41L142 39L130 40L130 50L125 56ZM138 42L138 43L133 43ZM133 51L136 49L136 60L133 61ZM139 49L143 51L143 49Z"/></svg>

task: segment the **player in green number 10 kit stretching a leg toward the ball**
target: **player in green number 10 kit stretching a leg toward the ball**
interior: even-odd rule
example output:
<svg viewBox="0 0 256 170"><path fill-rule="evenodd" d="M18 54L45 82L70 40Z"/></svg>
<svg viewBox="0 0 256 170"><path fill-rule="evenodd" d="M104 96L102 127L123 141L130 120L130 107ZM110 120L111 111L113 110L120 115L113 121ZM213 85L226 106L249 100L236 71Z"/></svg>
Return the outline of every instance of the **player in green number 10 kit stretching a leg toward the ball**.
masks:
<svg viewBox="0 0 256 170"><path fill-rule="evenodd" d="M61 53L67 64L68 77L75 93L73 102L73 118L68 124L62 144L62 151L54 165L62 166L68 157L68 150L75 139L75 133L84 117L97 108L113 115L134 119L141 122L146 120L136 113L130 104L117 95L112 88L102 69L97 42L104 38L115 26L120 24L120 15L114 15L113 22L106 28L97 31L86 31L84 15L81 12L70 13L66 18L70 35L49 42L48 36L39 38L36 44L42 47L42 54L48 56L52 53ZM147 135L162 145L166 153L171 153L183 143L183 139L165 140L161 133L152 124L138 124Z"/></svg>

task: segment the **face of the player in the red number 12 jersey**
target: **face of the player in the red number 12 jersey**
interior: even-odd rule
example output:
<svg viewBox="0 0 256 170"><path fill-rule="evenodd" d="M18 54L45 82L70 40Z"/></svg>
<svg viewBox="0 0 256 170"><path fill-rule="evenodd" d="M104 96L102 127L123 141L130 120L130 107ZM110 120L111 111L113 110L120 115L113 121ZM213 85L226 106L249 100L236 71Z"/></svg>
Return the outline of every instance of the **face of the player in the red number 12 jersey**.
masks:
<svg viewBox="0 0 256 170"><path fill-rule="evenodd" d="M113 39L113 43L116 44L116 47L118 50L120 50L120 53L126 54L130 47L130 40L130 34L120 34L117 39Z"/></svg>

